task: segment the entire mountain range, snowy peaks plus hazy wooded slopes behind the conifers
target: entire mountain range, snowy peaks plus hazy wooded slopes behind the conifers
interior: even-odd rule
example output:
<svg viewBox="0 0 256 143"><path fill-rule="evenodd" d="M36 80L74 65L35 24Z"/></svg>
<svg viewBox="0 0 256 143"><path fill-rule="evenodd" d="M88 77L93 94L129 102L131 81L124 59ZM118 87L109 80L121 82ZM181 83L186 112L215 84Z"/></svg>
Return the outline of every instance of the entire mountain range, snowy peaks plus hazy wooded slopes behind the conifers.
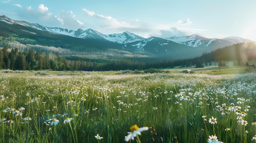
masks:
<svg viewBox="0 0 256 143"><path fill-rule="evenodd" d="M240 37L209 39L199 35L182 37L140 37L128 31L102 34L93 29L77 31L46 27L0 16L0 46L8 45L20 51L39 49L45 53L83 57L161 57L190 58L218 48L251 40Z"/></svg>

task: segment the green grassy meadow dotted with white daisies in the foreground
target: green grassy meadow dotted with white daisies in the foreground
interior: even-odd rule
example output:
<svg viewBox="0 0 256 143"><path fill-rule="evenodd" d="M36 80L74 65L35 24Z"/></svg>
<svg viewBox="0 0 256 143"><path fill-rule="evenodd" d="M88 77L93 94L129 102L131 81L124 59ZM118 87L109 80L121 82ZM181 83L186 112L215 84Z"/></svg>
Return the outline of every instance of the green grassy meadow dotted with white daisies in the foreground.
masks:
<svg viewBox="0 0 256 143"><path fill-rule="evenodd" d="M233 70L193 74L178 69L151 74L3 71L0 140L254 143L255 71Z"/></svg>

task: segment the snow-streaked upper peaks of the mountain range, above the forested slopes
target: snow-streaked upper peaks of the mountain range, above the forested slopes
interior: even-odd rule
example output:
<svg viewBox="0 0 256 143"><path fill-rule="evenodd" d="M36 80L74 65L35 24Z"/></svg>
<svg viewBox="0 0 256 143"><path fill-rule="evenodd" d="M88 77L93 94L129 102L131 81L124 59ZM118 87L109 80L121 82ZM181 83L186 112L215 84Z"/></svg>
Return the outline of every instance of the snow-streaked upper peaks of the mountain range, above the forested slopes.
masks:
<svg viewBox="0 0 256 143"><path fill-rule="evenodd" d="M154 39L154 37L144 38L140 37L136 34L130 33L128 31L123 33L115 33L115 34L102 34L98 31L95 31L93 29L77 29L74 30L68 30L58 27L46 27L42 26L40 24L33 24L25 21L18 21L18 20L11 20L10 18L6 16L0 16L0 21L6 22L8 24L20 24L22 26L29 26L31 28L41 30L41 31L47 31L49 33L54 34L61 34L61 35L68 35L72 37L78 37L82 39L101 39L101 40L108 40L110 42L115 42L118 44L129 44L134 46L137 45L139 49L142 49L144 45L147 43L150 43L151 40ZM156 37L155 37L156 38ZM157 37L158 38L158 37ZM190 47L209 47L211 45L214 45L214 47L224 47L232 44L237 43L243 43L243 42L252 42L252 40L240 38L240 37L226 37L223 39L209 39L205 37L201 37L199 35L193 34L189 36L174 36L174 37L166 37L166 38L160 38L164 40L170 40L172 42L182 44L185 46ZM165 43L162 43L163 45ZM138 46L139 45L139 46Z"/></svg>

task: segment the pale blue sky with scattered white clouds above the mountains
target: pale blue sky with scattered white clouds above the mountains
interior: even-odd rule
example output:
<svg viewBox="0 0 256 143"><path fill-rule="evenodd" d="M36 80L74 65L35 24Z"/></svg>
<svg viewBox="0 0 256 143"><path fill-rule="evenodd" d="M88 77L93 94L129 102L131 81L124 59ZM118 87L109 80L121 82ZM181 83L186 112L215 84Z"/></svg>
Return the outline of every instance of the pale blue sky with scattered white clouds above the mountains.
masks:
<svg viewBox="0 0 256 143"><path fill-rule="evenodd" d="M2 0L0 15L69 30L256 41L256 0Z"/></svg>

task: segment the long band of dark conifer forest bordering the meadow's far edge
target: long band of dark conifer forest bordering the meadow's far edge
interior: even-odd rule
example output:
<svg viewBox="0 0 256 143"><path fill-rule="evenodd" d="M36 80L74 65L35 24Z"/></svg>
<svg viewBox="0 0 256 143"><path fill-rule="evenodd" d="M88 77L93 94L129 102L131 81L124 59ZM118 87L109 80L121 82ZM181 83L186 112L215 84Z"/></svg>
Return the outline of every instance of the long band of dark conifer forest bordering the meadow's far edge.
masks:
<svg viewBox="0 0 256 143"><path fill-rule="evenodd" d="M149 68L173 68L175 66L196 68L210 65L225 66L225 61L235 61L234 65L247 65L256 60L256 42L234 44L218 48L210 53L188 59L161 59L154 57L89 58L60 56L59 53L43 53L30 49L27 52L4 46L0 50L0 69L11 70L145 70ZM254 66L250 65L250 66Z"/></svg>

